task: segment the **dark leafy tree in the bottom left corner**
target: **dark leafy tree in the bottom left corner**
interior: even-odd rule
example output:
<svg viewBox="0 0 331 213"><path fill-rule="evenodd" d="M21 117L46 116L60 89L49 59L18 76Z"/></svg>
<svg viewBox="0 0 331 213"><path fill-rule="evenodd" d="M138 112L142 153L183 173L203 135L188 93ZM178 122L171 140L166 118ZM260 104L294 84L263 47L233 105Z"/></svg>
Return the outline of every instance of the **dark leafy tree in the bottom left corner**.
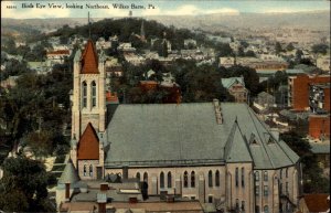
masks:
<svg viewBox="0 0 331 213"><path fill-rule="evenodd" d="M0 209L9 212L55 211L47 200L47 173L40 161L8 158L2 164Z"/></svg>

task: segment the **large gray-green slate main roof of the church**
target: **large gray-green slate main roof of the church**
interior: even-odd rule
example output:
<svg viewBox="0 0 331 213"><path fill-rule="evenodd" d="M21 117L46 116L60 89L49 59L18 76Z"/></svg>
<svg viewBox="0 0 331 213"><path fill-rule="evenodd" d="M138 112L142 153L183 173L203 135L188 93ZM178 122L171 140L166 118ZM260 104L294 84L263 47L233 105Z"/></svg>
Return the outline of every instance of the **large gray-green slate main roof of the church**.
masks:
<svg viewBox="0 0 331 213"><path fill-rule="evenodd" d="M119 105L107 127L110 149L105 166L197 166L253 160L256 169L271 169L299 160L246 104L222 103L221 111L223 124L218 125L212 103ZM249 143L253 135L256 143Z"/></svg>

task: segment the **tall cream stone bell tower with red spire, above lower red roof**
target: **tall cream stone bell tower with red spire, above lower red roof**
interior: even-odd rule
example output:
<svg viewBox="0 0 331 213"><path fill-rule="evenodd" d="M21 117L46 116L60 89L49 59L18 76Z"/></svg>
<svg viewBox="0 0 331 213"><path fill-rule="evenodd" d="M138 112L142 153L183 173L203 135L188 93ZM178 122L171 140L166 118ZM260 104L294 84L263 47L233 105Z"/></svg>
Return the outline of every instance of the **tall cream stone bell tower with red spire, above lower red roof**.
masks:
<svg viewBox="0 0 331 213"><path fill-rule="evenodd" d="M105 131L105 56L97 54L92 40L83 53L78 50L74 57L74 89L72 97L72 139L79 139L90 123L97 132Z"/></svg>

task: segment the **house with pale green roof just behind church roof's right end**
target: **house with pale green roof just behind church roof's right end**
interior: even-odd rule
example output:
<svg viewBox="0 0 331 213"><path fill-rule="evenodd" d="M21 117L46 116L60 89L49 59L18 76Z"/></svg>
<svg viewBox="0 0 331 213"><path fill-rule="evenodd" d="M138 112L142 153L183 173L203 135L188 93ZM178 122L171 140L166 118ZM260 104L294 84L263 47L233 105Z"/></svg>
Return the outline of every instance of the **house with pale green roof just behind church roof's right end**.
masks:
<svg viewBox="0 0 331 213"><path fill-rule="evenodd" d="M222 78L222 85L234 96L236 103L246 103L248 99L248 89L245 87L244 77Z"/></svg>

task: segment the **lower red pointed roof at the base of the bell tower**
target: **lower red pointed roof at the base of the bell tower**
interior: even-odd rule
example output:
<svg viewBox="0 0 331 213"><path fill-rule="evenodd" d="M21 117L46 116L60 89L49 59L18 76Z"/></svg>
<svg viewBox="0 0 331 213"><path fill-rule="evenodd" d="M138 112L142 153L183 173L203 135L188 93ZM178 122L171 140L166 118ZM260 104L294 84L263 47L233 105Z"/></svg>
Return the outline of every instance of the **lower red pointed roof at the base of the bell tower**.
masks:
<svg viewBox="0 0 331 213"><path fill-rule="evenodd" d="M86 126L86 129L78 141L77 159L78 160L99 159L99 139L90 123L88 123L88 125Z"/></svg>

